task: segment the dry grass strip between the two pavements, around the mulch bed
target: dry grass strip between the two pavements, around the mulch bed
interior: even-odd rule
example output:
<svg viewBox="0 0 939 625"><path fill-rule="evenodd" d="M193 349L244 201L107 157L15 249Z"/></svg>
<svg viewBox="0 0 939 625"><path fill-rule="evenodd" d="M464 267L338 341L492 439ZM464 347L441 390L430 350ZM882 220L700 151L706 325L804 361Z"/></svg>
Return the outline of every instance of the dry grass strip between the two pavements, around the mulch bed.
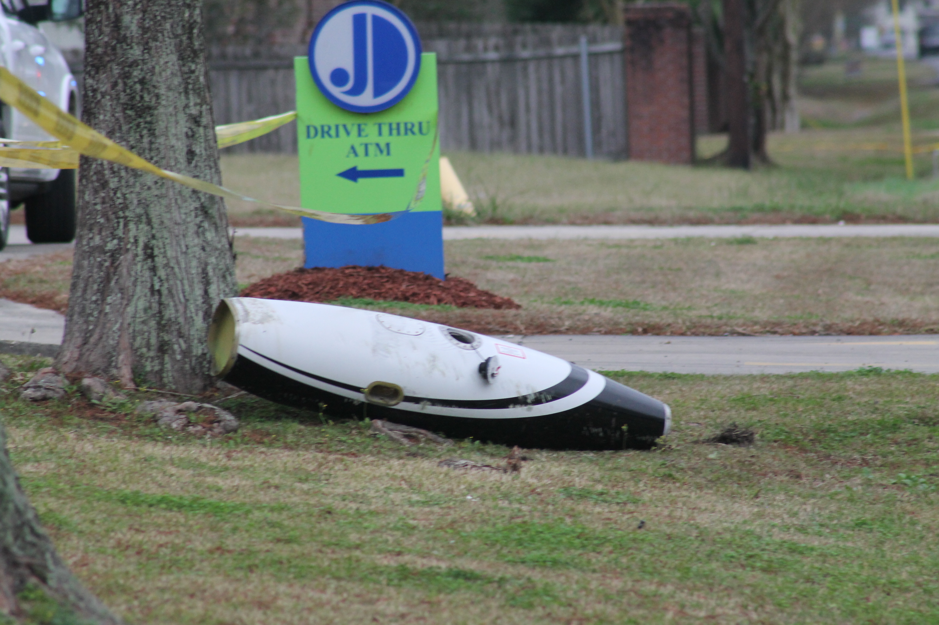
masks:
<svg viewBox="0 0 939 625"><path fill-rule="evenodd" d="M302 264L297 240L236 238L247 286ZM448 241L447 270L518 311L346 305L498 334L939 332L939 241L698 238ZM64 311L70 252L0 264L0 297Z"/></svg>

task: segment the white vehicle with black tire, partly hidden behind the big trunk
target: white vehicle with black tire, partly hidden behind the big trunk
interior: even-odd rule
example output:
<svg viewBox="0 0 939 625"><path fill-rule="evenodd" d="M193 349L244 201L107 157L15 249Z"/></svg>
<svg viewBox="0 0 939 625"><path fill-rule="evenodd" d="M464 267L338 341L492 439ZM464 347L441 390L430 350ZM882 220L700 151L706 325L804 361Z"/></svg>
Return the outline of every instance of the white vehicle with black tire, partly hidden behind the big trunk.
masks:
<svg viewBox="0 0 939 625"><path fill-rule="evenodd" d="M82 15L83 0L0 0L0 65L63 111L78 115L78 84L69 64L37 28ZM54 137L4 105L0 137L54 141ZM66 243L75 237L74 169L0 169L0 250L7 245L9 211L23 204L26 236L33 243Z"/></svg>

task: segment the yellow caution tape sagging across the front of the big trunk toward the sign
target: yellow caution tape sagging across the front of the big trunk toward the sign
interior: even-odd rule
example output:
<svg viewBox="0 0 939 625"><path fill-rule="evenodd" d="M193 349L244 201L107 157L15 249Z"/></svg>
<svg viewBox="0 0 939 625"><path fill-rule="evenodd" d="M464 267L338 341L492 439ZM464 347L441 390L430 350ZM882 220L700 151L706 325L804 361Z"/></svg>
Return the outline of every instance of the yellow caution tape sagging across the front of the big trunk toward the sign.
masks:
<svg viewBox="0 0 939 625"><path fill-rule="evenodd" d="M341 213L328 213L311 208L300 208L299 206L281 206L262 202L254 198L241 195L235 191L225 189L219 185L193 178L189 175L177 174L169 170L161 169L148 160L142 159L128 149L115 144L103 134L85 126L78 119L61 111L48 99L40 96L32 87L23 83L19 78L9 72L7 68L0 67L0 100L15 108L20 113L26 115L35 122L41 129L53 135L63 144L68 145L80 154L96 159L110 160L121 165L126 165L132 169L137 169L153 175L159 175L162 178L174 180L179 184L204 191L219 197L225 197L244 202L253 202L259 206L267 206L284 210L285 212L300 217L309 217L319 221L331 221L332 223L381 223L393 219L392 214L381 215L344 215ZM288 120L289 121L289 120ZM286 122L285 122L286 123ZM10 148L16 149L16 148ZM34 150L30 150L33 152ZM56 151L54 148L50 152Z"/></svg>

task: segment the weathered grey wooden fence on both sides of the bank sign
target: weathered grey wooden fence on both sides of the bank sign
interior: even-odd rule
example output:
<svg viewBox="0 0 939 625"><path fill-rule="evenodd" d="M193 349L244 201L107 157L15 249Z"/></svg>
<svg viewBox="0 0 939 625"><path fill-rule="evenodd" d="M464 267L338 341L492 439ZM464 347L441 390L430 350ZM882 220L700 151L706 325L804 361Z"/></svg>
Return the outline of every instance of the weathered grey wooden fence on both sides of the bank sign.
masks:
<svg viewBox="0 0 939 625"><path fill-rule="evenodd" d="M418 28L424 50L438 54L442 150L585 156L593 148L597 156L625 157L620 28L447 23ZM300 45L211 49L216 123L293 110L293 58L305 54ZM70 60L80 71L80 59ZM293 123L226 150L296 151Z"/></svg>

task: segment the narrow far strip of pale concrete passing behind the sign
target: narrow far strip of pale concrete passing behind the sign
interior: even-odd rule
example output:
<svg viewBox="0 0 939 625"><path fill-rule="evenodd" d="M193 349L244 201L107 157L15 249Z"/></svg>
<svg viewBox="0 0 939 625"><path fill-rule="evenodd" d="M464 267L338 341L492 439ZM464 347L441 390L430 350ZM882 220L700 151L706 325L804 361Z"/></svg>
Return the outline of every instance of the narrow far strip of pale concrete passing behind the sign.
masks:
<svg viewBox="0 0 939 625"><path fill-rule="evenodd" d="M270 238L302 238L301 228L235 228L236 236L266 236ZM686 225L686 226L633 226L633 225L540 225L540 226L445 226L443 239L464 238L735 238L739 236L774 237L827 237L827 236L927 236L939 237L936 223L890 224L785 224L785 225Z"/></svg>

